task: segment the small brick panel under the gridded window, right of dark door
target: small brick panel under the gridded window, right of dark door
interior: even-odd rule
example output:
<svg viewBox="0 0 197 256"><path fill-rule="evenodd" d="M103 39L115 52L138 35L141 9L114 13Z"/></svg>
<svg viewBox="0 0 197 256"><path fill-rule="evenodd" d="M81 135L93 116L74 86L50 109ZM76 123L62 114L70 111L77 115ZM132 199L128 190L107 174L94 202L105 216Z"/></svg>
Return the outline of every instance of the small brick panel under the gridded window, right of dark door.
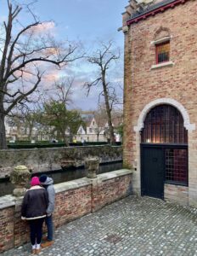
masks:
<svg viewBox="0 0 197 256"><path fill-rule="evenodd" d="M186 186L166 183L164 194L165 200L177 202L183 206L189 204L189 188Z"/></svg>

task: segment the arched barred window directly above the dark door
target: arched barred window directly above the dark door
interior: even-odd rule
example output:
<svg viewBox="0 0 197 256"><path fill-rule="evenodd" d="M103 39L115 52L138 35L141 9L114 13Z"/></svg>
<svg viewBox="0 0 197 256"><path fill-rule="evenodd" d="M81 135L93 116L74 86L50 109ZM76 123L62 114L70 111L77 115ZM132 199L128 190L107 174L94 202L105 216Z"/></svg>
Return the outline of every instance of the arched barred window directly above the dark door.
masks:
<svg viewBox="0 0 197 256"><path fill-rule="evenodd" d="M160 105L152 108L144 121L142 143L188 143L188 131L177 108Z"/></svg>

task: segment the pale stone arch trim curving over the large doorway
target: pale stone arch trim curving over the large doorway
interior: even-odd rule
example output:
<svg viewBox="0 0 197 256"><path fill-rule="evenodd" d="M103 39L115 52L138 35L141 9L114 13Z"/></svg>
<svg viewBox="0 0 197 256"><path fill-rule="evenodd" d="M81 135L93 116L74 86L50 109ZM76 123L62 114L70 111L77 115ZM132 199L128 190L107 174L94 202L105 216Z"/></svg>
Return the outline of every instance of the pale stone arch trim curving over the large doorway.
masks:
<svg viewBox="0 0 197 256"><path fill-rule="evenodd" d="M139 114L138 125L134 126L134 128L133 128L134 131L138 132L144 128L144 119L146 118L147 113L149 113L149 110L151 108L154 108L155 106L160 105L160 104L169 104L169 105L172 105L173 107L177 108L177 110L179 110L183 116L183 121L184 121L183 125L186 128L186 130L188 130L188 131L195 130L195 124L190 124L189 113L183 107L183 105L181 103L179 103L176 100L173 100L171 98L160 98L160 99L156 99L153 102L149 102L144 107L143 111Z"/></svg>

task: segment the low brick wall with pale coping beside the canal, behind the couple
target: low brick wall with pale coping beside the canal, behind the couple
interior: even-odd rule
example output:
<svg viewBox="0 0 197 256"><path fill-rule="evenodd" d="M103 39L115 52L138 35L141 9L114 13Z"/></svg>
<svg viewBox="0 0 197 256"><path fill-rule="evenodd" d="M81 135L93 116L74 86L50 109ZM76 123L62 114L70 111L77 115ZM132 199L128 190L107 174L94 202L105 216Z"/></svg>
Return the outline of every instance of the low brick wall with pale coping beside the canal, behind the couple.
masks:
<svg viewBox="0 0 197 256"><path fill-rule="evenodd" d="M55 227L98 211L106 204L132 194L132 171L122 169L89 179L54 185L56 205ZM0 198L0 253L29 241L29 227L20 219L22 198L5 195Z"/></svg>

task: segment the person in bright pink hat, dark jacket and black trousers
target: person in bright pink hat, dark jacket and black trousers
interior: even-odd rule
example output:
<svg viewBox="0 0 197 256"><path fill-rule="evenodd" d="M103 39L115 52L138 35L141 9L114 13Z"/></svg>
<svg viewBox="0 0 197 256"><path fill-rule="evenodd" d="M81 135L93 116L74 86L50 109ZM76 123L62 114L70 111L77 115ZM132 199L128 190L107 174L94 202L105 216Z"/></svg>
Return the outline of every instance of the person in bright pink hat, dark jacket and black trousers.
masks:
<svg viewBox="0 0 197 256"><path fill-rule="evenodd" d="M40 253L42 240L42 224L46 218L48 208L48 193L42 188L38 177L31 178L31 188L26 190L22 207L21 218L30 224L30 238L32 254Z"/></svg>

